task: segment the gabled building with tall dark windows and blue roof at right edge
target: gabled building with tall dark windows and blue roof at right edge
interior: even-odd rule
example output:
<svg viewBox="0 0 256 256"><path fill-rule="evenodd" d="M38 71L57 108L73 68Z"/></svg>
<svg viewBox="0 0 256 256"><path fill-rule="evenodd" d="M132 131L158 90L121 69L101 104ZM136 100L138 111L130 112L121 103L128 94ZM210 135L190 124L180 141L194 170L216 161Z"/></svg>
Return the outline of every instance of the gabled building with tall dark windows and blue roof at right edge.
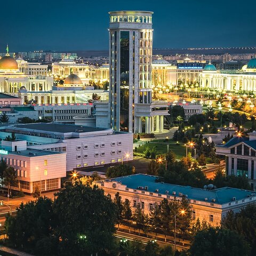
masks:
<svg viewBox="0 0 256 256"><path fill-rule="evenodd" d="M216 154L226 156L227 175L242 176L249 179L252 190L256 189L256 132L249 137L237 136L225 145L217 146Z"/></svg>

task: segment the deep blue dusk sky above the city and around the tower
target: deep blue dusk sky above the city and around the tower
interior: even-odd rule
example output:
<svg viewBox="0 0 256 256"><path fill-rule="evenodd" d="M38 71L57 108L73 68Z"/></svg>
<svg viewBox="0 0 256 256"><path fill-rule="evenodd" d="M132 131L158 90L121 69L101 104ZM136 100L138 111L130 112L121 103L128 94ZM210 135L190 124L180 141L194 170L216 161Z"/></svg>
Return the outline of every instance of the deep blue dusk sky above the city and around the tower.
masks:
<svg viewBox="0 0 256 256"><path fill-rule="evenodd" d="M255 46L255 0L1 1L0 52L107 50L109 11L153 11L153 47Z"/></svg>

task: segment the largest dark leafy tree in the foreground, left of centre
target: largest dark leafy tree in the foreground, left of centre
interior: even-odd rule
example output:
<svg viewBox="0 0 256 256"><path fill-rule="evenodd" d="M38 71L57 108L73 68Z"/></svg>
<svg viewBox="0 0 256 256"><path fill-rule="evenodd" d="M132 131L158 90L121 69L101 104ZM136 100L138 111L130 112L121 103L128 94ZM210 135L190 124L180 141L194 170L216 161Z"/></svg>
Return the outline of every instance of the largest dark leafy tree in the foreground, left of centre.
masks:
<svg viewBox="0 0 256 256"><path fill-rule="evenodd" d="M90 255L113 245L116 206L102 189L77 181L57 193L53 210L59 223L60 255Z"/></svg>

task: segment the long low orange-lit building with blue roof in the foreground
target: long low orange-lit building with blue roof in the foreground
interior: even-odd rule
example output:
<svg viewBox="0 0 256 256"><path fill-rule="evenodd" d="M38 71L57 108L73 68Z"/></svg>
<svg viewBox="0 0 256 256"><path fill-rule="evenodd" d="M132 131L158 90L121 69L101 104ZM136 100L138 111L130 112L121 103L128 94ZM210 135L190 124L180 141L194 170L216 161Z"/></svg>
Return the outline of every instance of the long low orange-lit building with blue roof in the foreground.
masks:
<svg viewBox="0 0 256 256"><path fill-rule="evenodd" d="M154 203L159 204L164 198L181 200L185 197L191 205L193 218L206 220L213 226L220 225L228 211L237 212L256 201L256 194L249 190L229 187L208 190L157 182L157 178L153 175L134 174L95 183L112 198L118 192L122 201L129 199L133 210L140 203L147 214L153 209Z"/></svg>

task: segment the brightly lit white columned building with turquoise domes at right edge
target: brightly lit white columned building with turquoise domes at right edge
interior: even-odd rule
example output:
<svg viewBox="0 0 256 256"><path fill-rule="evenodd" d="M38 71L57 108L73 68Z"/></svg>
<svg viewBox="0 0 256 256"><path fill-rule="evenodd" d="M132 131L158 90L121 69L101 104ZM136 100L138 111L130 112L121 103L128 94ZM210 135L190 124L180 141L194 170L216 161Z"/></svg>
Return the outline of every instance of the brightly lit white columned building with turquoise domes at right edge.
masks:
<svg viewBox="0 0 256 256"><path fill-rule="evenodd" d="M211 63L200 74L200 86L225 91L256 90L256 59L242 70L217 70Z"/></svg>

